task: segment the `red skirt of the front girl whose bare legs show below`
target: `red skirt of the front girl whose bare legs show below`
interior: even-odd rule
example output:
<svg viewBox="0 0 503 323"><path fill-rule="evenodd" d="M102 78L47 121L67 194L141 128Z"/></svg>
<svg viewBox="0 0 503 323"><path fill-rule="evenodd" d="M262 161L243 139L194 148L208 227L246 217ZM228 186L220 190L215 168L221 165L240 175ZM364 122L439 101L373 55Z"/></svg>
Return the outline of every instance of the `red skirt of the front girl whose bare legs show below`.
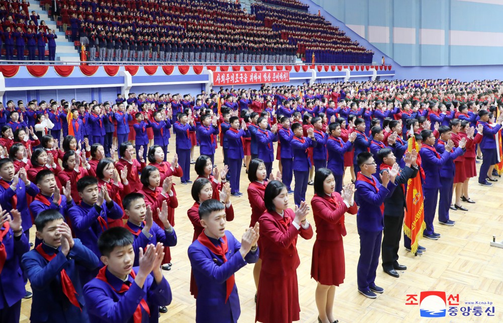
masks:
<svg viewBox="0 0 503 323"><path fill-rule="evenodd" d="M322 285L339 286L344 283L345 276L343 240L314 241L311 277Z"/></svg>

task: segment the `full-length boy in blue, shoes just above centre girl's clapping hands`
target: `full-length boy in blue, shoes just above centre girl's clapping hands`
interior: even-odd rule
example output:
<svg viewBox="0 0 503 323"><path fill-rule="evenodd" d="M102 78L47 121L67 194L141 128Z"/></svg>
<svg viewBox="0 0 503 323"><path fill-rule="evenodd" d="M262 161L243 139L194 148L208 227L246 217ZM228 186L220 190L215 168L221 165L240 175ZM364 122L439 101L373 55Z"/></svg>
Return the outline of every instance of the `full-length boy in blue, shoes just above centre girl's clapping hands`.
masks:
<svg viewBox="0 0 503 323"><path fill-rule="evenodd" d="M244 120L241 122L239 129L239 118L230 117L230 128L225 132L227 138L228 150L227 161L229 163L229 176L230 176L230 189L234 197L242 196L243 193L239 192L239 179L241 177L241 163L244 158L243 143L241 137L249 137L248 129Z"/></svg>

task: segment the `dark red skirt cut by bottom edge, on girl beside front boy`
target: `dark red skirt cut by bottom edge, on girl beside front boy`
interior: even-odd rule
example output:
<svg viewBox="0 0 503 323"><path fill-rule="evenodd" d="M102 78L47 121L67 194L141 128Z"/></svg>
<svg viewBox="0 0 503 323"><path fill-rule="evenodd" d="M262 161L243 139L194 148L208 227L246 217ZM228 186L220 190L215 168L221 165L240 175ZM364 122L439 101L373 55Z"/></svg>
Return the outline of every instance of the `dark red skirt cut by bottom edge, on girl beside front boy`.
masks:
<svg viewBox="0 0 503 323"><path fill-rule="evenodd" d="M297 271L274 275L260 272L255 320L262 323L291 323L300 319Z"/></svg>

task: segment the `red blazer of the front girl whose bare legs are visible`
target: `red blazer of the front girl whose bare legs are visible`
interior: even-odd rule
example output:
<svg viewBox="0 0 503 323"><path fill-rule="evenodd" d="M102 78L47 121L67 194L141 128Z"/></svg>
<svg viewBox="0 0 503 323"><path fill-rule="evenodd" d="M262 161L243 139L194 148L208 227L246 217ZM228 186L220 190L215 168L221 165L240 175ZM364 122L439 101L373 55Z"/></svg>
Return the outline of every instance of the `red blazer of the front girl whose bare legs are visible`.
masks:
<svg viewBox="0 0 503 323"><path fill-rule="evenodd" d="M338 204L329 201L329 197L326 194L323 197L315 194L311 199L317 240L341 240L346 235L344 213L356 214L358 212L356 203L348 208L339 193L333 192L331 197Z"/></svg>

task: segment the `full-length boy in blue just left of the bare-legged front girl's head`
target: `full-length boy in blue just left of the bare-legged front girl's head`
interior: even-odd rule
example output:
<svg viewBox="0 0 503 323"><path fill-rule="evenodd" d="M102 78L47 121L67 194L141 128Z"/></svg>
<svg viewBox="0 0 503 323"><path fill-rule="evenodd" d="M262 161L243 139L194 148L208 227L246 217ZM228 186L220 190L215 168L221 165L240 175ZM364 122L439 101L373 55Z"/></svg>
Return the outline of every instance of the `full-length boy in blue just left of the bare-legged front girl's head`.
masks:
<svg viewBox="0 0 503 323"><path fill-rule="evenodd" d="M293 139L290 141L293 151L293 175L295 176L295 189L293 200L295 205L300 206L300 202L306 200L307 181L309 179L309 170L311 169L311 160L307 156L307 149L316 145L314 137L314 128L307 130L308 137L303 137L302 125L294 123L292 125Z"/></svg>

